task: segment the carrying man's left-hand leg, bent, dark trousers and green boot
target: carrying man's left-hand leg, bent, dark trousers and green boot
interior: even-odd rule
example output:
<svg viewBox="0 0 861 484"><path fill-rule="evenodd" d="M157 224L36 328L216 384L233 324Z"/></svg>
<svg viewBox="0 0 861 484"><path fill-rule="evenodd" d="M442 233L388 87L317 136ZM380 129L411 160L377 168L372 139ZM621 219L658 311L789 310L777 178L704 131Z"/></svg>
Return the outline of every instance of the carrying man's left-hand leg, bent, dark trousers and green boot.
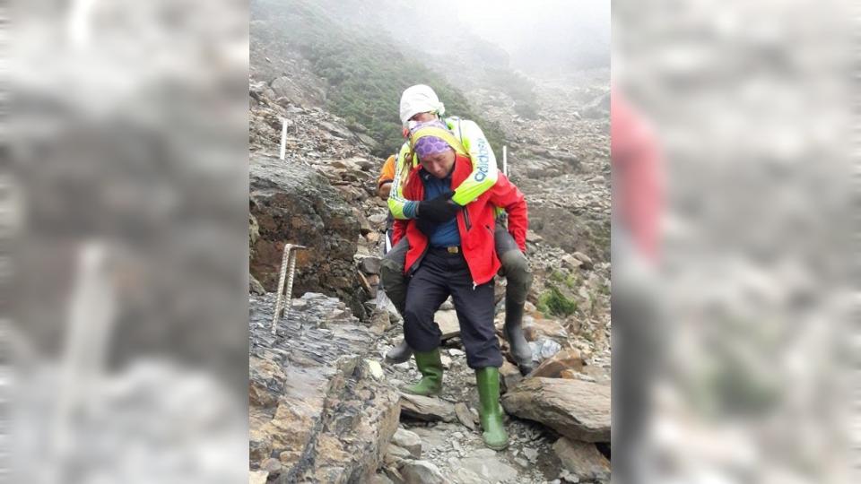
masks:
<svg viewBox="0 0 861 484"><path fill-rule="evenodd" d="M422 379L401 388L405 393L432 395L442 390L442 360L439 341L442 333L433 315L448 298L445 273L432 255L426 255L413 275L404 307L404 340L413 348L415 364Z"/></svg>

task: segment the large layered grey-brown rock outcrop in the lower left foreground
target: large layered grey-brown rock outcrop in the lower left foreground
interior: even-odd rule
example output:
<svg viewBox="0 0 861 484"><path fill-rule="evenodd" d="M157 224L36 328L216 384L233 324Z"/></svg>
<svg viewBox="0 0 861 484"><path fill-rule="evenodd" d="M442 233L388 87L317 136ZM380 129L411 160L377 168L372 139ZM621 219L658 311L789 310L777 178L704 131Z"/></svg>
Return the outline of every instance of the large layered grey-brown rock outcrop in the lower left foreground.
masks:
<svg viewBox="0 0 861 484"><path fill-rule="evenodd" d="M398 393L369 365L376 336L322 294L297 299L275 335L274 294L249 306L251 470L277 470L283 482L369 481L400 416Z"/></svg>

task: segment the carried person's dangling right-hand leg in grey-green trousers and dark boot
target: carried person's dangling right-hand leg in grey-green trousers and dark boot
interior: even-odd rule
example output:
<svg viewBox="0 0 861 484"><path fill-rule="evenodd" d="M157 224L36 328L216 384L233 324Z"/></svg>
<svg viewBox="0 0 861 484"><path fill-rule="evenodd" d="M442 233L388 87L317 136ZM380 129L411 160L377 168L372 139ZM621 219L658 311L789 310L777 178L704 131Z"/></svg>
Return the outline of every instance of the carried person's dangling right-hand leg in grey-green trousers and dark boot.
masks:
<svg viewBox="0 0 861 484"><path fill-rule="evenodd" d="M532 270L526 255L520 252L517 242L501 223L497 223L493 234L496 241L496 254L502 264L502 273L506 278L505 286L505 338L511 346L511 356L514 357L517 368L522 375L528 374L535 367L532 362L532 350L523 336L523 307L526 295L532 287Z"/></svg>

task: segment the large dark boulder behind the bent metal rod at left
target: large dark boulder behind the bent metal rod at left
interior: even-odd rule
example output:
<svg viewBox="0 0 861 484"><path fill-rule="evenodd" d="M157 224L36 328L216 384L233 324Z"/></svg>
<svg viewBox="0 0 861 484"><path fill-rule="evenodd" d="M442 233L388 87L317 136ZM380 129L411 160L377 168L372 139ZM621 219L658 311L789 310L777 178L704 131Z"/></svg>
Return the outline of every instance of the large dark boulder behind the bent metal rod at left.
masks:
<svg viewBox="0 0 861 484"><path fill-rule="evenodd" d="M300 163L254 155L250 212L258 233L250 271L265 290L277 290L284 244L306 246L297 255L293 296L321 292L364 315L361 303L368 297L353 264L359 220L326 177Z"/></svg>

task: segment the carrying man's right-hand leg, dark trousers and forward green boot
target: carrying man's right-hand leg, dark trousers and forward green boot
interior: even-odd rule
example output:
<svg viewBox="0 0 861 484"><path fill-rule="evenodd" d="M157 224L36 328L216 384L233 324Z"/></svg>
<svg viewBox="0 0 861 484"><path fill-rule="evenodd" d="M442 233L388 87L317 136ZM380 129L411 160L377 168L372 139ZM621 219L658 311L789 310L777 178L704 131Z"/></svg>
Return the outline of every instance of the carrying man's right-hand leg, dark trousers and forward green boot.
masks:
<svg viewBox="0 0 861 484"><path fill-rule="evenodd" d="M460 321L466 364L475 370L482 438L491 449L502 450L509 445L509 436L502 423L500 405L502 352L493 327L493 281L473 287L466 270L465 276L449 279L449 288Z"/></svg>

